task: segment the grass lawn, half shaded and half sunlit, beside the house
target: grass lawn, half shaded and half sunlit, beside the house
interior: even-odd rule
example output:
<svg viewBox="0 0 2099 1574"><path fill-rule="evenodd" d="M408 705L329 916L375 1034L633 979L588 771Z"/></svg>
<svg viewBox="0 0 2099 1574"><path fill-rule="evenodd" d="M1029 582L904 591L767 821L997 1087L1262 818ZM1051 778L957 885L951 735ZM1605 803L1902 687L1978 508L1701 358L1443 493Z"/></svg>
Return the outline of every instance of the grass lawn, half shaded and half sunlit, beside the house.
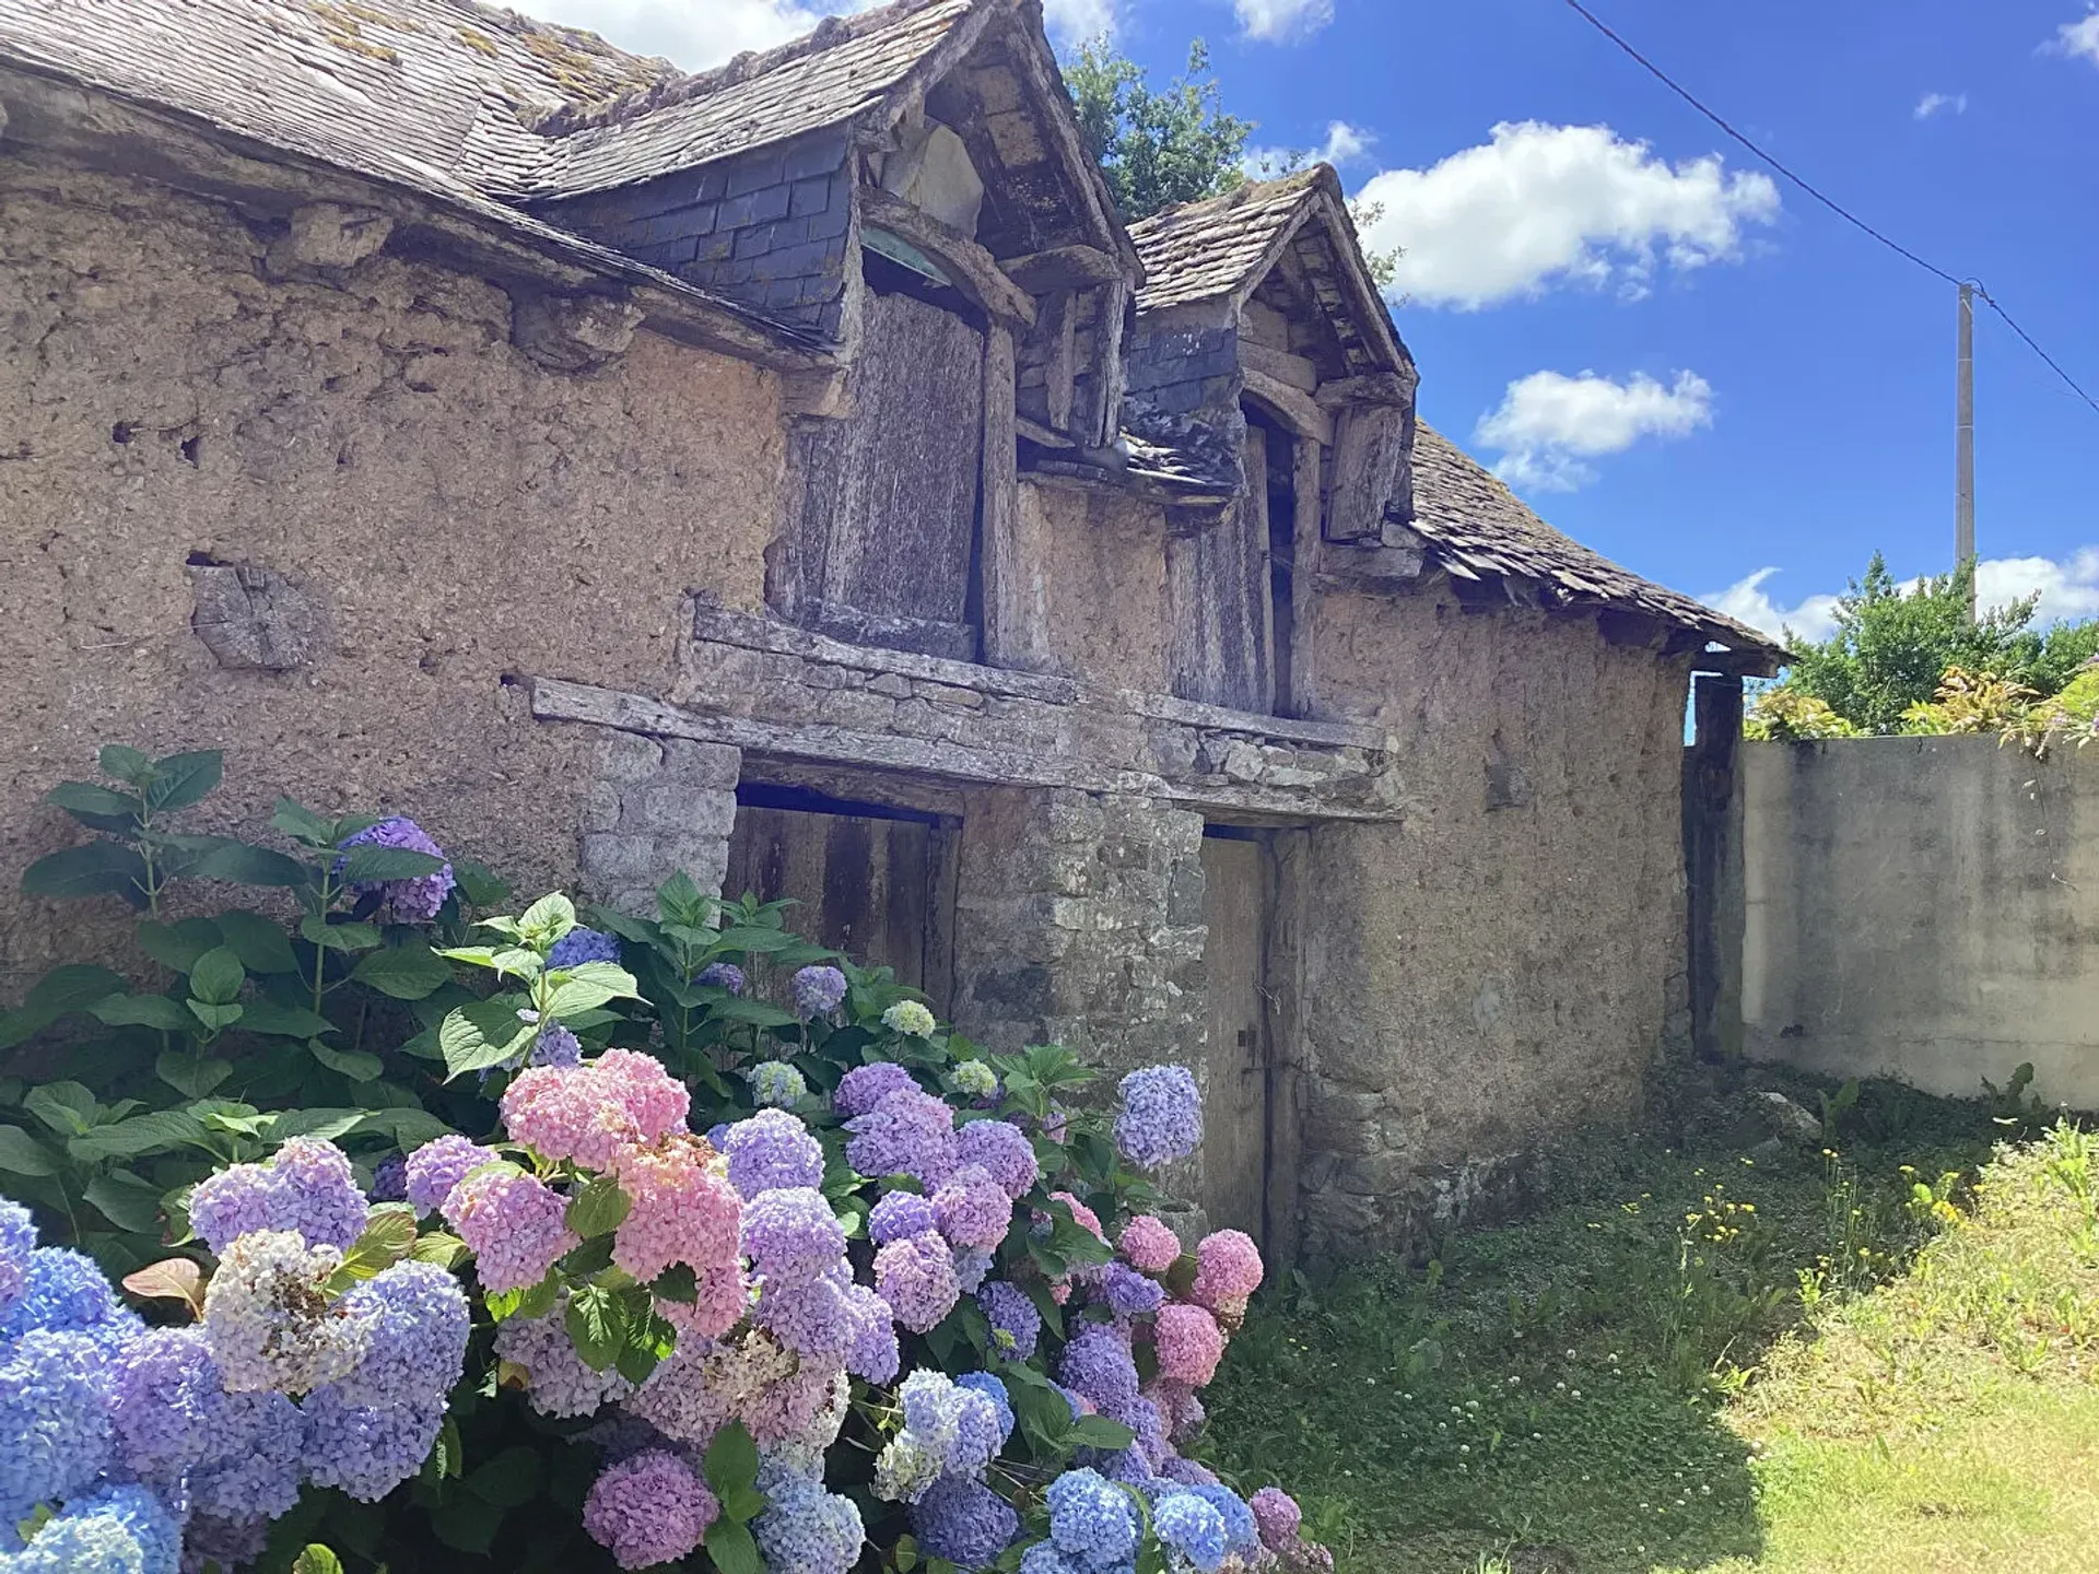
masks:
<svg viewBox="0 0 2099 1574"><path fill-rule="evenodd" d="M2099 1570L2099 1142L1868 1087L1830 1158L1688 1104L1526 1221L1268 1293L1215 1463L1343 1574Z"/></svg>

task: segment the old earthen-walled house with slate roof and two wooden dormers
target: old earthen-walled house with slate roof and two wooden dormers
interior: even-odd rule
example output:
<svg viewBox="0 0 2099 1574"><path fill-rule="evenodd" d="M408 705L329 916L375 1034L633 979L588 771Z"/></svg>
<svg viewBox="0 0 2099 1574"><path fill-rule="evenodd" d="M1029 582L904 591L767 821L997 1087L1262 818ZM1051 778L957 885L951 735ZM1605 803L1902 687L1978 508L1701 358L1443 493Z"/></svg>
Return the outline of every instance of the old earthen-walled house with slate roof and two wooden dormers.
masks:
<svg viewBox="0 0 2099 1574"><path fill-rule="evenodd" d="M1404 1242L1685 1035L1685 688L1776 655L1415 384L1331 170L1117 220L1039 0L701 76L0 0L0 881L99 743L222 745L229 823L684 867L1188 1060L1213 1217ZM0 993L97 934L6 902Z"/></svg>

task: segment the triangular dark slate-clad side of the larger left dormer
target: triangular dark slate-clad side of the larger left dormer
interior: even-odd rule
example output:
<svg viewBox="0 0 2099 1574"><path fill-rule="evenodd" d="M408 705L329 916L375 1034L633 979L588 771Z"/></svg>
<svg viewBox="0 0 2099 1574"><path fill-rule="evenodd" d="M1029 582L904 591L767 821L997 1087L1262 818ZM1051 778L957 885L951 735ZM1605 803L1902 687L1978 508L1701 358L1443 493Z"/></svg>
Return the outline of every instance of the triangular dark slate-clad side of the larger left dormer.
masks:
<svg viewBox="0 0 2099 1574"><path fill-rule="evenodd" d="M842 130L552 204L546 218L783 323L842 334L852 231Z"/></svg>

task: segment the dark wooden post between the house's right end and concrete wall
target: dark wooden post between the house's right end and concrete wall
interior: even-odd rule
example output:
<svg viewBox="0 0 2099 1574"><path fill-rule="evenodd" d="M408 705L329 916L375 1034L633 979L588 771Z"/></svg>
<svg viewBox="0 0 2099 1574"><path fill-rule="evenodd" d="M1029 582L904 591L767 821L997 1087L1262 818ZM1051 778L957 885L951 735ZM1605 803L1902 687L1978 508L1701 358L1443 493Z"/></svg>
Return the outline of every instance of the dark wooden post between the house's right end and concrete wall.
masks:
<svg viewBox="0 0 2099 1574"><path fill-rule="evenodd" d="M1742 1054L1742 680L1692 678L1692 747L1683 762L1683 875L1690 896L1692 1051Z"/></svg>

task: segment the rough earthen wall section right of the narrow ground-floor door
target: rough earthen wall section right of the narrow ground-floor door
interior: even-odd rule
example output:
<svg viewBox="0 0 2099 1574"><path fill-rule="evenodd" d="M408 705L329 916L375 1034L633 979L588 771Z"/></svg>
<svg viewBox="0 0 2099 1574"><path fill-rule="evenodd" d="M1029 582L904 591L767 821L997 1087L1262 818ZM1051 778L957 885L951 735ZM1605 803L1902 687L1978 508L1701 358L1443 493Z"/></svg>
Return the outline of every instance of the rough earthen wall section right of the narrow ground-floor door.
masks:
<svg viewBox="0 0 2099 1574"><path fill-rule="evenodd" d="M1320 714L1396 735L1406 814L1306 839L1308 1255L1417 1240L1639 1110L1690 1026L1688 665L1436 583L1322 604Z"/></svg>

